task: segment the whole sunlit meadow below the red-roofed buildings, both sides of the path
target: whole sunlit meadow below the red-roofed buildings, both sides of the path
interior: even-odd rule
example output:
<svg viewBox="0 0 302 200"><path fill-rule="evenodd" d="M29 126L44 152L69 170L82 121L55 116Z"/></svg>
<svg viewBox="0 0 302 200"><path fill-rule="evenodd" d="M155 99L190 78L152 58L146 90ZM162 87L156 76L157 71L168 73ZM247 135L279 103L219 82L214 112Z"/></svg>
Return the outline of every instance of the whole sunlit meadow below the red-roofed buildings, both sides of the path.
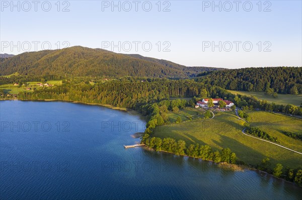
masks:
<svg viewBox="0 0 302 200"><path fill-rule="evenodd" d="M276 135L280 144L287 145L293 149L301 151L302 142L294 140L280 134L281 129L290 129L296 127L298 131L301 127L302 120L292 117L278 116L272 117L271 113L259 112L249 113L252 117L251 125L259 125L262 121L270 123L269 134ZM273 114L272 114L273 115ZM285 122L280 122L279 120ZM269 157L272 167L276 163L281 163L284 167L289 166L297 168L302 166L302 155L276 146L274 144L249 137L242 133L243 120L239 120L235 112L218 112L215 117L210 120L203 121L187 121L178 124L169 124L158 126L155 129L155 137L171 137L182 139L189 144L208 144L213 150L221 150L222 148L231 148L239 160L245 163L257 165L264 157ZM267 124L264 124L267 126Z"/></svg>

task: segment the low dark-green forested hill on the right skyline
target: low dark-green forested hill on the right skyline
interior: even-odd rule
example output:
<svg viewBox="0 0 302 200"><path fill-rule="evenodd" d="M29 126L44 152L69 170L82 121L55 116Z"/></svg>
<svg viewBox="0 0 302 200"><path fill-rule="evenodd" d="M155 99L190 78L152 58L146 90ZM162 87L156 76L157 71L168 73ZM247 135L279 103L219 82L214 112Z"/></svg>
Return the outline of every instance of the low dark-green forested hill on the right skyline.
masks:
<svg viewBox="0 0 302 200"><path fill-rule="evenodd" d="M243 68L200 75L197 81L229 90L302 93L301 67ZM270 89L271 88L271 89Z"/></svg>

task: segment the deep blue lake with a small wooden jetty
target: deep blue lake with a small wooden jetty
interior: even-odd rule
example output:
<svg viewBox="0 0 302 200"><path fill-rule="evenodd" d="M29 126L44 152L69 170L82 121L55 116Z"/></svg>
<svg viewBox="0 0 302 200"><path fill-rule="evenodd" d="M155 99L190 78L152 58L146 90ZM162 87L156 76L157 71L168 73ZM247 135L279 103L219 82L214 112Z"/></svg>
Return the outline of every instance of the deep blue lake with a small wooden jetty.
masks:
<svg viewBox="0 0 302 200"><path fill-rule="evenodd" d="M138 115L66 102L0 101L0 199L301 199L253 170L123 145Z"/></svg>

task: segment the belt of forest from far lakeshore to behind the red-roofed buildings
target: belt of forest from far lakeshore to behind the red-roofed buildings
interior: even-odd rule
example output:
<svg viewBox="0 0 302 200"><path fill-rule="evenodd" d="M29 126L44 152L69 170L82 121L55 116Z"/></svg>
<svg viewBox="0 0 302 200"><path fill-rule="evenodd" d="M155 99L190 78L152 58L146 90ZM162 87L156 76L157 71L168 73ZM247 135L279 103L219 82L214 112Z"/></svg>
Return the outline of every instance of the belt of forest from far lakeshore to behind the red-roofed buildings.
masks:
<svg viewBox="0 0 302 200"><path fill-rule="evenodd" d="M260 109L302 115L301 106L280 105L258 100L254 96L234 95L219 86L211 86L191 79L124 77L110 81L95 80L95 84L91 84L90 81L89 77L66 79L61 86L42 88L34 92L21 92L19 98L70 100L140 110L140 105L159 102L169 97L190 97L191 106L203 97L212 97L233 101L243 110ZM4 91L0 92L4 93ZM141 111L146 110L143 108Z"/></svg>

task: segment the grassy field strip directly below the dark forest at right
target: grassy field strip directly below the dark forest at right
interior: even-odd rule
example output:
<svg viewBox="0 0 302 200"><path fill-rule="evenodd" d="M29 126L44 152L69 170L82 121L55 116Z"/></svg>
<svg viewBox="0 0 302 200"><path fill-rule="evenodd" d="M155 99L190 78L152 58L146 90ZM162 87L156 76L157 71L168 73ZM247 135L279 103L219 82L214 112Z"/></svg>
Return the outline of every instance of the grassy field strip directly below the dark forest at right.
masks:
<svg viewBox="0 0 302 200"><path fill-rule="evenodd" d="M299 95L292 95L292 94L278 94L278 98L274 98L271 96L267 96L264 94L264 92L246 92L246 91L234 91L234 90L228 90L232 94L240 94L240 95L246 95L246 96L255 96L258 99L266 100L268 102L274 102L276 104L293 104L293 105L300 105L302 102L302 94Z"/></svg>

